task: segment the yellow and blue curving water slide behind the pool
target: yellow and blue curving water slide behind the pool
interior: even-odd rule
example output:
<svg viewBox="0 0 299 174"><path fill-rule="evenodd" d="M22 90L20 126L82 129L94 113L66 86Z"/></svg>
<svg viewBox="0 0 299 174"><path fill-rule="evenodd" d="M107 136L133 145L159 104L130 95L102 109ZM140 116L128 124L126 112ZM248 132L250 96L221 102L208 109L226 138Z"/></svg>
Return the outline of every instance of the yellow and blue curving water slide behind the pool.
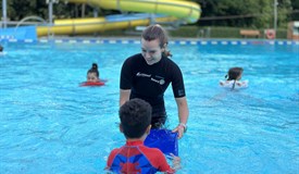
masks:
<svg viewBox="0 0 299 174"><path fill-rule="evenodd" d="M147 26L152 14L157 23L184 22L196 23L200 17L199 4L186 0L65 0L72 3L87 3L107 10L140 12L136 14L108 15L105 17L55 20L53 26L38 26L37 35L92 34L135 26Z"/></svg>

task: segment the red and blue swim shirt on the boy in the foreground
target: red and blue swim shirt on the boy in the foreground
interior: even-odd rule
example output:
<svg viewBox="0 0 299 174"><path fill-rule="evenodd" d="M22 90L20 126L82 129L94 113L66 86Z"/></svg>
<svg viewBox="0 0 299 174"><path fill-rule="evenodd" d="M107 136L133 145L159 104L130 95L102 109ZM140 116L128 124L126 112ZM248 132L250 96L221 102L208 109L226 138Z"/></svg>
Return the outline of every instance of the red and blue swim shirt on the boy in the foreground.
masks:
<svg viewBox="0 0 299 174"><path fill-rule="evenodd" d="M112 150L108 158L107 170L122 174L175 173L161 150L148 148L141 140L127 141L125 146Z"/></svg>

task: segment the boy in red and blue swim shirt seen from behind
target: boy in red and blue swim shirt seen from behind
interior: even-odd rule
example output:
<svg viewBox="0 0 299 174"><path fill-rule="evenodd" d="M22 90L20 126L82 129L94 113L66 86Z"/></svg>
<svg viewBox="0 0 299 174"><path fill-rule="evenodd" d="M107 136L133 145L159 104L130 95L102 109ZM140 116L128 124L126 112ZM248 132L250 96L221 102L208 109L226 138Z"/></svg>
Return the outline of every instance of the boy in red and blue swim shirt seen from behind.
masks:
<svg viewBox="0 0 299 174"><path fill-rule="evenodd" d="M113 173L175 173L180 159L172 156L173 167L164 154L155 148L144 146L151 128L151 105L141 99L126 101L120 109L120 130L126 137L126 145L111 151L105 170Z"/></svg>

